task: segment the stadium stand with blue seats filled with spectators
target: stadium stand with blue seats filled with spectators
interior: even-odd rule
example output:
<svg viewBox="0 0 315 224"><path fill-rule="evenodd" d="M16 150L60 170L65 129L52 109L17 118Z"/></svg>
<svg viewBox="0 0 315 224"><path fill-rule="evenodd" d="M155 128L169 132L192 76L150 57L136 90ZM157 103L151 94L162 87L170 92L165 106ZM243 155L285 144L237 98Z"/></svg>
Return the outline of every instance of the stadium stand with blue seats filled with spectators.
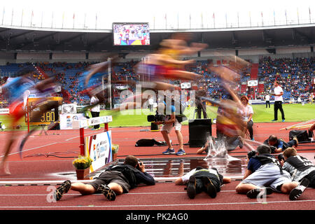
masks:
<svg viewBox="0 0 315 224"><path fill-rule="evenodd" d="M120 62L115 64L112 69L112 80L139 80L139 76L134 69L137 62L138 61L131 60L130 62ZM41 80L44 76L51 76L52 73L55 73L56 82L62 85L64 94L66 93L70 95L70 101L77 102L78 105L86 105L89 104L90 99L87 96L79 94L80 91L83 90L83 84L78 82L78 77L88 66L94 63L97 62L8 63L0 66L0 82L2 85L6 82L8 77L14 77L17 71L23 67L34 66L37 71L36 75L34 75L34 79ZM221 99L222 92L218 76L208 70L208 64L210 63L212 63L211 59L200 60L196 61L195 64L186 66L186 69L203 75L203 78L197 85L198 87L206 87L208 97ZM226 62L224 61L216 61L216 64L225 63ZM299 96L302 102L307 102L309 94L314 92L314 85L311 85L311 80L315 77L314 65L314 57L297 57L295 59L272 59L271 57L261 57L259 63L252 63L251 68L248 68L241 73L241 79L239 80L239 94L244 94L244 92L247 94L247 86L243 83L246 83L248 80L258 79L260 83L263 82L264 84L258 85L258 97L256 99L263 99L263 95L272 90L274 80L280 80L284 90L283 98L286 102L289 102L292 99L296 102L297 97ZM102 82L102 80L97 81ZM107 83L107 73L104 73L104 83ZM171 83L177 83L179 85L179 82L176 81ZM134 87L129 87L129 90L134 91ZM2 108L6 107L6 100L3 99L3 97L0 99L0 106ZM116 88L113 88L113 103L120 103L120 92Z"/></svg>

